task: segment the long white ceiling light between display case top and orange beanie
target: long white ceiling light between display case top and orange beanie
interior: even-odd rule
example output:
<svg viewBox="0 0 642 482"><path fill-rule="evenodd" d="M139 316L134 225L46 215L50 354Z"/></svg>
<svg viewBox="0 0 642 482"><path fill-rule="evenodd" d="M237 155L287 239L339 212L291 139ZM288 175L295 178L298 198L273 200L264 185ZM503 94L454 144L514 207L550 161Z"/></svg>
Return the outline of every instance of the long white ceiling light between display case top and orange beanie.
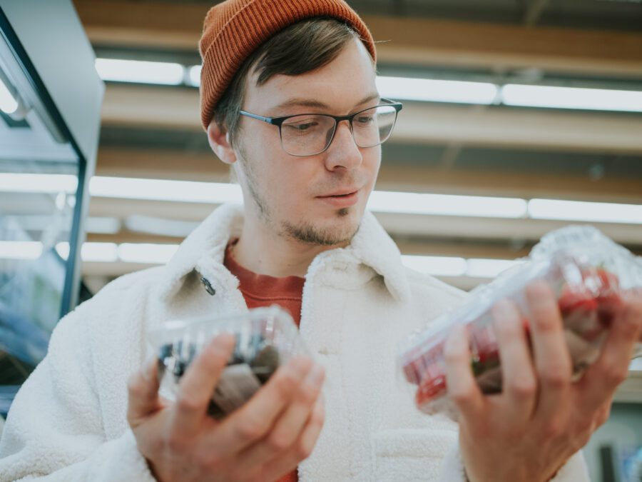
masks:
<svg viewBox="0 0 642 482"><path fill-rule="evenodd" d="M96 71L104 81L180 85L185 67L170 62L96 59Z"/></svg>

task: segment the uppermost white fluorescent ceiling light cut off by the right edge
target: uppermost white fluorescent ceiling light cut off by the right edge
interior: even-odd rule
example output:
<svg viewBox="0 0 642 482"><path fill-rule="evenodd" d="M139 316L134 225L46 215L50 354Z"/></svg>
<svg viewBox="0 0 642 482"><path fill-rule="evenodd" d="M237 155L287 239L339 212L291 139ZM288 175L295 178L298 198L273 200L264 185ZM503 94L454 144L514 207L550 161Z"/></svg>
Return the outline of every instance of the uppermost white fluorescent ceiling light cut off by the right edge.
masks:
<svg viewBox="0 0 642 482"><path fill-rule="evenodd" d="M642 91L507 84L501 101L507 106L642 112Z"/></svg>

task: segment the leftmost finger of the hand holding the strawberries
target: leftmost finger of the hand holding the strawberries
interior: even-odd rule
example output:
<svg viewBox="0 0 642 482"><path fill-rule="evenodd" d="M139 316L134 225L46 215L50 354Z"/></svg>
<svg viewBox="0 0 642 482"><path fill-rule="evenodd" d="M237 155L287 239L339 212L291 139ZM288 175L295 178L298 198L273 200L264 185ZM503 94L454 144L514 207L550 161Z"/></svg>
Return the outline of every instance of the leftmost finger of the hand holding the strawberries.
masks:
<svg viewBox="0 0 642 482"><path fill-rule="evenodd" d="M448 396L464 418L474 421L483 410L484 396L472 373L468 336L463 326L454 326L449 333L444 344L444 361Z"/></svg>

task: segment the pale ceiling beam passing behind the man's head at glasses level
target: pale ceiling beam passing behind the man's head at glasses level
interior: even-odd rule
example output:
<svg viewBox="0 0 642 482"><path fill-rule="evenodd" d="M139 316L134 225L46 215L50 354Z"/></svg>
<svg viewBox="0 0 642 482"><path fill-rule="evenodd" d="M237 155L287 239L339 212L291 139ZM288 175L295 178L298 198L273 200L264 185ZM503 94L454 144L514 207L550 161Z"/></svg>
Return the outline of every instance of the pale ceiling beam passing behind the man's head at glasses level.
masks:
<svg viewBox="0 0 642 482"><path fill-rule="evenodd" d="M198 91L109 84L103 125L203 131ZM393 139L417 144L642 153L642 116L407 102Z"/></svg>

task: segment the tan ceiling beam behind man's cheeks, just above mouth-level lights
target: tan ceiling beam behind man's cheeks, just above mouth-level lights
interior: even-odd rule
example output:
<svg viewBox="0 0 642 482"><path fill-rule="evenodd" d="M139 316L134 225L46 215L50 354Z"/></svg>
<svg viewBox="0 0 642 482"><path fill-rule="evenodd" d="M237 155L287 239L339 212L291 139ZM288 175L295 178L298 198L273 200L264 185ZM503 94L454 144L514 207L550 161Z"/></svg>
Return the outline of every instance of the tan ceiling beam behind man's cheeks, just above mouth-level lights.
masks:
<svg viewBox="0 0 642 482"><path fill-rule="evenodd" d="M546 152L541 156L544 159ZM492 171L483 166L479 169L442 169L442 166L383 159L375 189L642 204L641 181L635 176L604 176L592 180L577 174L544 171L534 174L519 171L519 168L516 165L514 171L510 167ZM102 147L98 151L96 175L228 182L230 170L214 154Z"/></svg>

